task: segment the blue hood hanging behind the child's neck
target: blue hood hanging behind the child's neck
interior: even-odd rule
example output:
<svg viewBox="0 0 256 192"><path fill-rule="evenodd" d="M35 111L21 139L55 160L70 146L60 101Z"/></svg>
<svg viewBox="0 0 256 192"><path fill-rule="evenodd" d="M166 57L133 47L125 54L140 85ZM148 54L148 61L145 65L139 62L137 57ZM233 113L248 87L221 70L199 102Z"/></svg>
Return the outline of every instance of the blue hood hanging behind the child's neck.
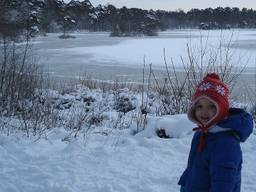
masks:
<svg viewBox="0 0 256 192"><path fill-rule="evenodd" d="M243 109L230 108L228 118L223 119L217 125L235 131L240 141L244 142L253 131L253 118Z"/></svg>

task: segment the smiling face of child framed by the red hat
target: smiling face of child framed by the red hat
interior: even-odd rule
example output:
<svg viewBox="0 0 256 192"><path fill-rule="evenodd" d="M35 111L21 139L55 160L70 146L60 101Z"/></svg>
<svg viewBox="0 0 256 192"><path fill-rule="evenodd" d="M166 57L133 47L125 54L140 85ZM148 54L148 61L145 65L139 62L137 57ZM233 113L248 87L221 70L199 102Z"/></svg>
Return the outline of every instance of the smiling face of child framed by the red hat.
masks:
<svg viewBox="0 0 256 192"><path fill-rule="evenodd" d="M195 104L195 117L202 124L206 124L216 113L215 104L206 98L198 100Z"/></svg>

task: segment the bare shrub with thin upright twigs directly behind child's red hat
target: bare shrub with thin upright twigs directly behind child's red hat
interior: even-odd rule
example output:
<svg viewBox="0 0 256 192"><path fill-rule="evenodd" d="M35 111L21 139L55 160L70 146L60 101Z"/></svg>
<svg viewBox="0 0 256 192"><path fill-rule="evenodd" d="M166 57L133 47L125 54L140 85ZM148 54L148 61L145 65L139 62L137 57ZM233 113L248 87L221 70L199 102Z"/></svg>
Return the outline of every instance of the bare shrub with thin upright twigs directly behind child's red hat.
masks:
<svg viewBox="0 0 256 192"><path fill-rule="evenodd" d="M217 46L211 46L208 37L200 37L199 46L193 45L191 41L187 44L188 61L181 58L184 71L188 79L188 87L191 87L191 95L195 85L209 72L216 72L221 80L226 83L231 90L236 85L236 80L244 71L248 59L243 61L245 55L239 54L235 49L231 49L234 34L227 36L220 34Z"/></svg>

